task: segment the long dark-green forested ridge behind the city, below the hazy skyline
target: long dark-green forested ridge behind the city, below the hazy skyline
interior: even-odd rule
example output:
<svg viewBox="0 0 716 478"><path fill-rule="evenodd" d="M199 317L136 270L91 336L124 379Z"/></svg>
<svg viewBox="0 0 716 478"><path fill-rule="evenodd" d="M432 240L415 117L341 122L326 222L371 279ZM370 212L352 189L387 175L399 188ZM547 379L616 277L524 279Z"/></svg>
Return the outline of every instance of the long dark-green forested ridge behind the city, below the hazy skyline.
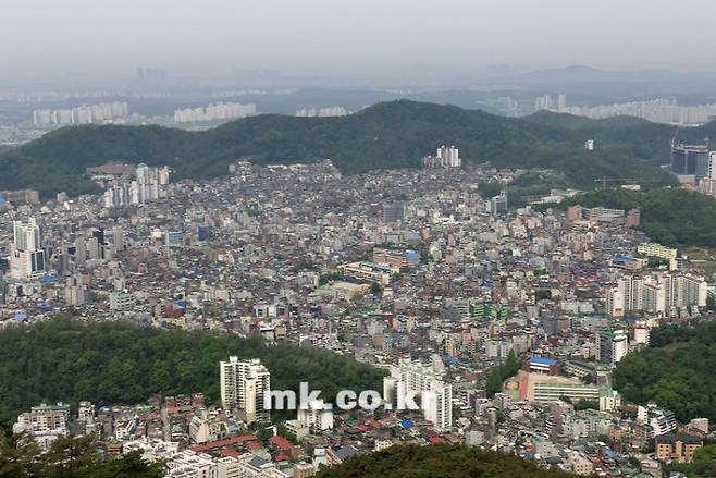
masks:
<svg viewBox="0 0 716 478"><path fill-rule="evenodd" d="M257 163L330 158L344 173L420 166L441 144L467 160L499 167L547 168L576 186L594 177L672 183L658 168L669 161L675 128L629 119L585 120L541 112L516 119L452 106L399 100L340 118L262 114L186 132L160 126L73 126L0 152L0 189L32 187L45 195L90 191L82 177L109 160L168 164L174 177L225 174L238 158ZM596 140L585 151L585 139Z"/></svg>

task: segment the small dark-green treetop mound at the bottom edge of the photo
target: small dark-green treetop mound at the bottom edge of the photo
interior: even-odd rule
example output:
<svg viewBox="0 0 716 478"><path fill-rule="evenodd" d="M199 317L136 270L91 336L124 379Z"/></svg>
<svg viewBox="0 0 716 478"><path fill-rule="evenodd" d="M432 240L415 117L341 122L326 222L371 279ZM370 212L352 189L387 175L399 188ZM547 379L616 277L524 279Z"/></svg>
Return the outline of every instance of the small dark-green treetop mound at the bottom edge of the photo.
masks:
<svg viewBox="0 0 716 478"><path fill-rule="evenodd" d="M568 478L515 455L466 446L395 445L326 468L317 478Z"/></svg>

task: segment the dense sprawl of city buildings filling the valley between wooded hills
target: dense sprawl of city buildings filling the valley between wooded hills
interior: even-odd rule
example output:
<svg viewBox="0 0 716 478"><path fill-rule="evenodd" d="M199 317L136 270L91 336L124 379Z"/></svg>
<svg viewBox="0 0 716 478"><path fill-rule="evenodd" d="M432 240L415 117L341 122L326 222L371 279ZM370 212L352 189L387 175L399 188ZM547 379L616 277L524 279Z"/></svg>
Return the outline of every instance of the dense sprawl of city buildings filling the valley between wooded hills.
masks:
<svg viewBox="0 0 716 478"><path fill-rule="evenodd" d="M385 378L381 406L321 400L277 415L264 402L276 370L226 356L220 401L157 390L136 404L27 404L13 430L45 449L95 433L109 454L166 459L169 477L305 477L410 443L579 475L690 462L708 418L628 403L612 371L653 328L711 316L713 278L640 232L639 210L554 207L571 189L515 208L482 191L526 173L433 161L342 176L330 160L237 161L223 179L171 182L165 168L112 163L91 171L100 196L15 194L0 222L4 328L125 321L258 336ZM413 390L433 401L392 406Z"/></svg>

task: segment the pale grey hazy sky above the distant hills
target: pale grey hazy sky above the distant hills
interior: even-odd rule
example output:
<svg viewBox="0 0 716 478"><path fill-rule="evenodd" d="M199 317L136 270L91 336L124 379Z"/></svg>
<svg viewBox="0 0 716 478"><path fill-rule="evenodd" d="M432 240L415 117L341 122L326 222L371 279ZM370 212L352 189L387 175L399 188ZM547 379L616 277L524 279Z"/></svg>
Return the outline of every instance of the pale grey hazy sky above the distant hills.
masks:
<svg viewBox="0 0 716 478"><path fill-rule="evenodd" d="M716 70L714 0L0 0L0 78Z"/></svg>

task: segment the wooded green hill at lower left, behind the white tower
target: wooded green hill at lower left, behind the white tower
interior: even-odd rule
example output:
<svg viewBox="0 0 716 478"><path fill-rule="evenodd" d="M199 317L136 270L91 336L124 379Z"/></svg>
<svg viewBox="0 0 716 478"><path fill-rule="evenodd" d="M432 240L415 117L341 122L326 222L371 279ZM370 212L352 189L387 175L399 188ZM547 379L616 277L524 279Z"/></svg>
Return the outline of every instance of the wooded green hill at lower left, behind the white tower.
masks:
<svg viewBox="0 0 716 478"><path fill-rule="evenodd" d="M0 421L41 401L139 403L150 395L202 392L219 400L219 361L261 358L276 390L308 381L322 396L375 388L382 371L318 350L125 322L57 320L0 330ZM379 390L379 389L374 389Z"/></svg>

